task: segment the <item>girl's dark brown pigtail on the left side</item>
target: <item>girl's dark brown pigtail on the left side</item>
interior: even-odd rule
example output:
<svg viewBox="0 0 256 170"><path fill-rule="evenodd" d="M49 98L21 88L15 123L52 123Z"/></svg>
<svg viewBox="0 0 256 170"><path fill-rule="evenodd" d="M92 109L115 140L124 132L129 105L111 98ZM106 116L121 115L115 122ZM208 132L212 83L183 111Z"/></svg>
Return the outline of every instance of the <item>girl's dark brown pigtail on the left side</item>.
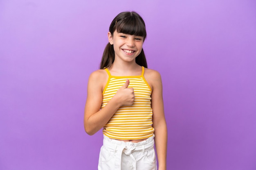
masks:
<svg viewBox="0 0 256 170"><path fill-rule="evenodd" d="M109 68L115 60L114 46L107 44L102 55L100 69Z"/></svg>

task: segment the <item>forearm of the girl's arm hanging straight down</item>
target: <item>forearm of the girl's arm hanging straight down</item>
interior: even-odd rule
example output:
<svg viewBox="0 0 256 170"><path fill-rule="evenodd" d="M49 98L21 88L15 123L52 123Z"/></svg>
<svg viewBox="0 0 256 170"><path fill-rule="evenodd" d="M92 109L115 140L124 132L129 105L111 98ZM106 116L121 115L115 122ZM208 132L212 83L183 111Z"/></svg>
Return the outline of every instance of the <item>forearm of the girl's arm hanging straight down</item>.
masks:
<svg viewBox="0 0 256 170"><path fill-rule="evenodd" d="M158 170L166 170L167 127L166 123L155 128L155 146L157 150Z"/></svg>

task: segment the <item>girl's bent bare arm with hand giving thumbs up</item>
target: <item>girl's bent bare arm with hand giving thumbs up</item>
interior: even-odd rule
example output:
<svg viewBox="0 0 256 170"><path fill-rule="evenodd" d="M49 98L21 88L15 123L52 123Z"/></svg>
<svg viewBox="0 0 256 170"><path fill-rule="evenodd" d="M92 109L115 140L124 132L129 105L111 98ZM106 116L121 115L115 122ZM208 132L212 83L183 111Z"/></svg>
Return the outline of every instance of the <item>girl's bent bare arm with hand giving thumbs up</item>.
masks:
<svg viewBox="0 0 256 170"><path fill-rule="evenodd" d="M108 76L105 70L93 72L88 80L87 100L84 113L84 128L86 133L93 135L107 124L113 114L121 105L132 105L134 92L127 88L129 81L117 91L108 104L100 110L102 102L102 90Z"/></svg>

